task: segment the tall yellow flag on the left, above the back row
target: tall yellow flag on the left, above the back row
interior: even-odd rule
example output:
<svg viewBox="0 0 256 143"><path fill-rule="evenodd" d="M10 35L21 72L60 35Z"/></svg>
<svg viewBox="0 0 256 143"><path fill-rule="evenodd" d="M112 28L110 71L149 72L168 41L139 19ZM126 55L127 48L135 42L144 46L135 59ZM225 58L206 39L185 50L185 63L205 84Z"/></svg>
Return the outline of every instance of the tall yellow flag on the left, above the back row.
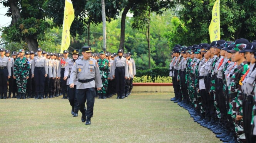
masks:
<svg viewBox="0 0 256 143"><path fill-rule="evenodd" d="M65 0L63 30L60 53L67 50L70 45L70 26L75 18L74 8L71 0Z"/></svg>

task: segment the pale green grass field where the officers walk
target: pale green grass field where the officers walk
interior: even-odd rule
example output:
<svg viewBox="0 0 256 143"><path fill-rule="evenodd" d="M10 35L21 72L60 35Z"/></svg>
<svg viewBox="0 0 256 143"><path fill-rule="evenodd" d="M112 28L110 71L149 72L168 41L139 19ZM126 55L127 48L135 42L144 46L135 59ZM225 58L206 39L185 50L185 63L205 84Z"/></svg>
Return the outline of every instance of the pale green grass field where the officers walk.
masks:
<svg viewBox="0 0 256 143"><path fill-rule="evenodd" d="M218 143L187 110L170 101L173 93L132 93L95 99L91 125L71 115L67 99L1 99L0 141L79 143Z"/></svg>

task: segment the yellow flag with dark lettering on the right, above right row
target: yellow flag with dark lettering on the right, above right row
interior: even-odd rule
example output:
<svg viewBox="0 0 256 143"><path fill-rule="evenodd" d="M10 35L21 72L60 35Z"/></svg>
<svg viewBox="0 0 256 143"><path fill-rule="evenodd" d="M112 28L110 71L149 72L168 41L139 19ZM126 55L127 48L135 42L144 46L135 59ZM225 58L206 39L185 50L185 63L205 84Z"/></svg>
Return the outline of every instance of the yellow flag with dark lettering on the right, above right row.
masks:
<svg viewBox="0 0 256 143"><path fill-rule="evenodd" d="M217 41L221 39L220 19L219 19L219 0L216 0L212 8L212 20L209 26L210 40Z"/></svg>

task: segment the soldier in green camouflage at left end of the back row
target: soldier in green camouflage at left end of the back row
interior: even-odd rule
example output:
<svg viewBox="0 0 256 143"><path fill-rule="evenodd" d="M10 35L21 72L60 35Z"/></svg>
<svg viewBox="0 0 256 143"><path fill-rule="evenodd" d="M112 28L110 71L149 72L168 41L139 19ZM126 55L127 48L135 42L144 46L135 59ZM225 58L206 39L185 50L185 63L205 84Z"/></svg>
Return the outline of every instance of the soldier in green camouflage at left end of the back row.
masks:
<svg viewBox="0 0 256 143"><path fill-rule="evenodd" d="M26 99L26 89L27 89L27 79L29 78L29 62L28 59L24 57L24 49L19 50L19 55L15 59L13 66L13 78L16 79L18 95L17 99Z"/></svg>

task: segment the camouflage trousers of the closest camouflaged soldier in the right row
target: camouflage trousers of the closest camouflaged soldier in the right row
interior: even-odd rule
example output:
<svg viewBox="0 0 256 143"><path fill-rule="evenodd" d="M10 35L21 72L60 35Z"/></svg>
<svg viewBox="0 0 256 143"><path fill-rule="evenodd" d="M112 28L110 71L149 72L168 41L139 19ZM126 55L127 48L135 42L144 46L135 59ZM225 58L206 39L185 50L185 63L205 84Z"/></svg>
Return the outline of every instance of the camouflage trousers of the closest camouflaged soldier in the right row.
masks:
<svg viewBox="0 0 256 143"><path fill-rule="evenodd" d="M228 114L231 115L232 119L233 119L233 123L235 125L235 131L236 131L236 135L238 137L238 140L244 139L244 122L243 119L241 120L236 120L236 110L237 107L240 106L242 104L242 101L240 101L238 99L238 97L229 99L229 111ZM241 113L243 115L243 111L241 110Z"/></svg>

